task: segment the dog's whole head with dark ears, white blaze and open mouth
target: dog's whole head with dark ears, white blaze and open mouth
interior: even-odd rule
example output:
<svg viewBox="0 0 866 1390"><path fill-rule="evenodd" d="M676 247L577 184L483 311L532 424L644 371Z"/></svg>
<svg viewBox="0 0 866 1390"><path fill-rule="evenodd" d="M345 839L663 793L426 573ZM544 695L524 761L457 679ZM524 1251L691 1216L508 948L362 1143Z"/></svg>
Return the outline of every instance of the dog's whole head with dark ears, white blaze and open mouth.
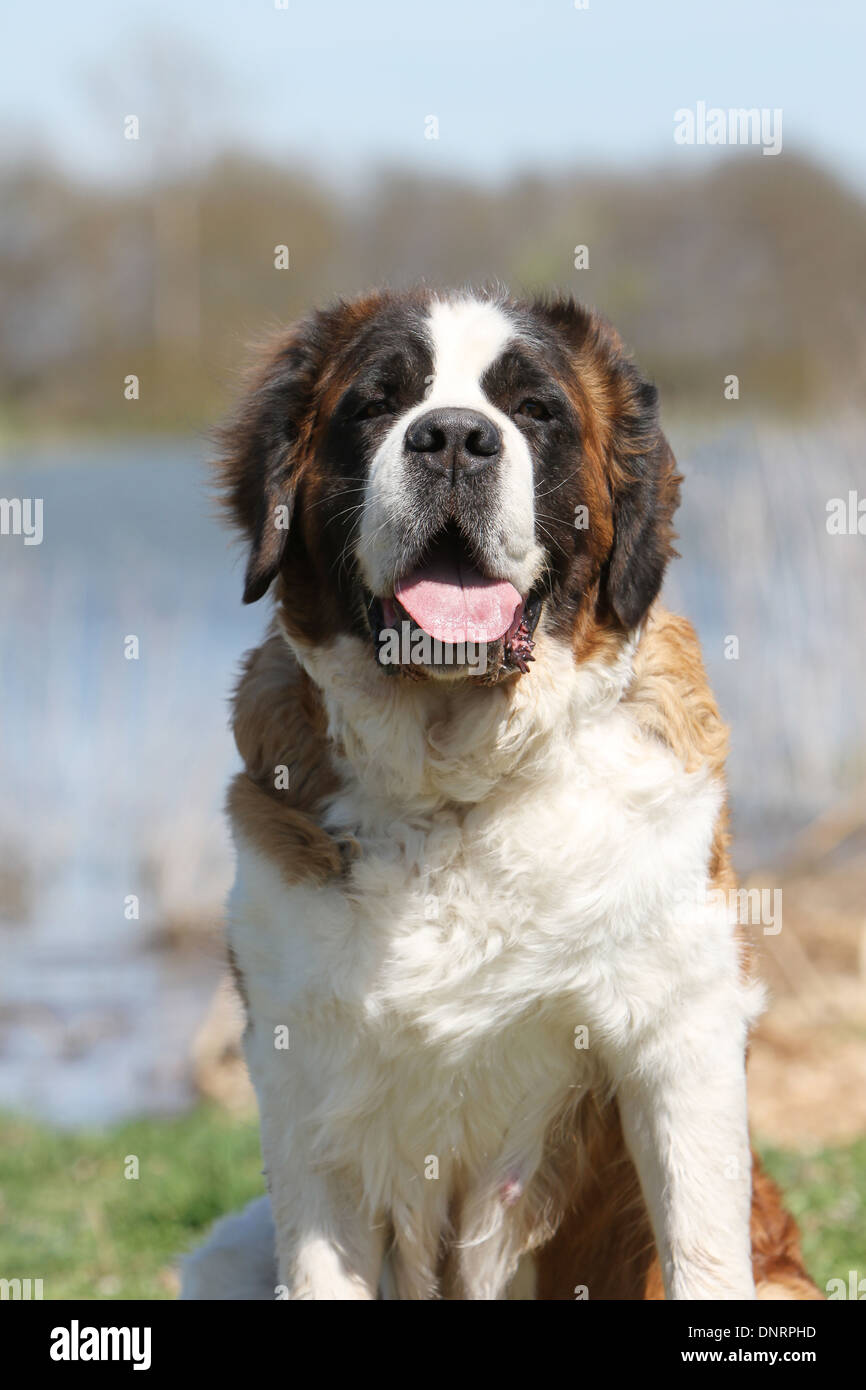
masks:
<svg viewBox="0 0 866 1390"><path fill-rule="evenodd" d="M300 642L491 682L528 670L539 619L580 657L660 588L678 478L656 392L571 300L320 311L268 346L222 439L245 600L279 577Z"/></svg>

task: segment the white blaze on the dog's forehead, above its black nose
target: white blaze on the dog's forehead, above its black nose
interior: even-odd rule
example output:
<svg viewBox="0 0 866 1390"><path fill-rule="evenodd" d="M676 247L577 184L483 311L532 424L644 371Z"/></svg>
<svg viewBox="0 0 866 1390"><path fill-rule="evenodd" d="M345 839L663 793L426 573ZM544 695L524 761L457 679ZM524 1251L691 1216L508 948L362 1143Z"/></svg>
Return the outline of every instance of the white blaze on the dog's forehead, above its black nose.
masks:
<svg viewBox="0 0 866 1390"><path fill-rule="evenodd" d="M425 403L477 400L484 373L514 336L510 320L496 304L480 299L434 299L428 321L434 379Z"/></svg>

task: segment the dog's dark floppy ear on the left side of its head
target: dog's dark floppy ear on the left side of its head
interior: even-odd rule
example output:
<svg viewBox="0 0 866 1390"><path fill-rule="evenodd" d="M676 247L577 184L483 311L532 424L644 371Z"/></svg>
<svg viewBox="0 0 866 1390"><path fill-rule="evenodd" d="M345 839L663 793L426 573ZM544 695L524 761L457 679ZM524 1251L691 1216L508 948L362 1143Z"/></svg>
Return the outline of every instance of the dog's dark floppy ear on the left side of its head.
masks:
<svg viewBox="0 0 866 1390"><path fill-rule="evenodd" d="M222 505L250 546L245 603L267 594L279 571L309 442L318 346L311 320L271 339L234 418L217 432Z"/></svg>

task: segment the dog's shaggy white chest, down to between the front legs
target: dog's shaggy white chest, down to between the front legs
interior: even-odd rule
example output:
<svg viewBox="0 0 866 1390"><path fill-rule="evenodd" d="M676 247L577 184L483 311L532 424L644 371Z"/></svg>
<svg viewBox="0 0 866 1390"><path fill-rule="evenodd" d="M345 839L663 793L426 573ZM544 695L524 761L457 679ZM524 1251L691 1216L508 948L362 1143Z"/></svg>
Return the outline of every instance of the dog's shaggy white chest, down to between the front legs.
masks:
<svg viewBox="0 0 866 1390"><path fill-rule="evenodd" d="M288 885L238 827L229 934L263 1108L306 1115L316 1162L374 1209L420 1202L431 1250L455 1194L480 1202L467 1240L512 1201L546 1209L557 1119L678 987L671 905L706 883L717 809L614 717L473 805L409 815L348 784L328 828L357 855L325 884Z"/></svg>

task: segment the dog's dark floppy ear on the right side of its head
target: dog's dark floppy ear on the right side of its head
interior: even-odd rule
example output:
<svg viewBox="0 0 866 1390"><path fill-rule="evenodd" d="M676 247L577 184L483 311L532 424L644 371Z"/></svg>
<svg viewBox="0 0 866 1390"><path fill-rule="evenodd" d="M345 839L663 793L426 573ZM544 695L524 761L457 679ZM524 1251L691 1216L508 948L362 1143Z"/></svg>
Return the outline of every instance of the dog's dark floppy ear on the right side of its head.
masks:
<svg viewBox="0 0 866 1390"><path fill-rule="evenodd" d="M680 474L659 427L657 391L630 364L619 379L613 427L613 549L602 598L628 631L657 598L673 548Z"/></svg>

